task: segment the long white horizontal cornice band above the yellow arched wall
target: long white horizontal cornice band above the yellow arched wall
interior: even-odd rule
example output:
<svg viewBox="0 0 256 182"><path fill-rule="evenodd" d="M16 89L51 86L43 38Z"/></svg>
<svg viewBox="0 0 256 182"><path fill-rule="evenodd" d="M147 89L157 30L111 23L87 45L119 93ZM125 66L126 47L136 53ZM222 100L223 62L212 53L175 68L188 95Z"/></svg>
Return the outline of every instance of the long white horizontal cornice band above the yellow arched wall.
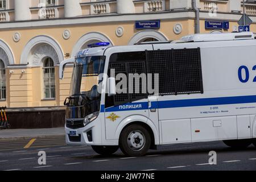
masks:
<svg viewBox="0 0 256 182"><path fill-rule="evenodd" d="M208 14L207 14L208 15ZM218 14L219 15L219 14ZM228 16L228 15L226 15ZM84 25L91 23L123 23L134 22L137 20L180 20L195 18L195 12L184 11L179 13L161 12L161 13L144 13L144 14L102 14L102 15L89 15L84 17L73 18L60 18L60 19L47 19L47 20L30 20L23 22L3 22L0 23L0 28L36 28L36 27L59 27L70 25ZM237 15L237 19L240 19L241 15ZM256 17L255 17L256 22Z"/></svg>

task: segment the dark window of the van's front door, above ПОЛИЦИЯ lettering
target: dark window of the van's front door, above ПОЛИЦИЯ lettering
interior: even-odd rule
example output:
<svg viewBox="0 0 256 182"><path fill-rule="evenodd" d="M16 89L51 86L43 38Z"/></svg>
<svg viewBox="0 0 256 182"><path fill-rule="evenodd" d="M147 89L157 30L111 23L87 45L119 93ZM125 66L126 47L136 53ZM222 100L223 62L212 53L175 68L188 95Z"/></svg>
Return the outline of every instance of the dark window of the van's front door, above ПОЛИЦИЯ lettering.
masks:
<svg viewBox="0 0 256 182"><path fill-rule="evenodd" d="M114 53L110 56L109 68L108 68L108 76L110 77L110 69L115 70L115 77L119 73L123 73L127 78L127 90L126 93L119 93L115 96L108 97L106 94L105 107L117 106L122 104L127 104L129 102L142 100L143 98L147 98L147 92L142 92L146 90L146 81L143 82L142 78L138 82L134 79L133 81L129 80L129 73L146 73L146 53L143 52L120 52ZM121 81L121 80L120 80ZM116 84L118 82L116 81ZM133 88L129 88L129 82L133 82ZM135 85L138 84L138 85ZM135 92L135 88L139 88L139 93ZM122 89L122 88L121 88ZM133 93L128 93L130 90L133 90ZM118 91L118 90L117 90Z"/></svg>

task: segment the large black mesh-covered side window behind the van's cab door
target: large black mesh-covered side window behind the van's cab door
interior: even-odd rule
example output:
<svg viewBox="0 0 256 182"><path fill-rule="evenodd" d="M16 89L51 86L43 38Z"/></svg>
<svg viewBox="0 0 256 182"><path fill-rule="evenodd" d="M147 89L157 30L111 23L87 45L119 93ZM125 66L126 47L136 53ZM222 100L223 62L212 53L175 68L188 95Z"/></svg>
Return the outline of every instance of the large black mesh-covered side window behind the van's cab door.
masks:
<svg viewBox="0 0 256 182"><path fill-rule="evenodd" d="M147 73L159 73L159 94L204 93L200 48L146 51Z"/></svg>

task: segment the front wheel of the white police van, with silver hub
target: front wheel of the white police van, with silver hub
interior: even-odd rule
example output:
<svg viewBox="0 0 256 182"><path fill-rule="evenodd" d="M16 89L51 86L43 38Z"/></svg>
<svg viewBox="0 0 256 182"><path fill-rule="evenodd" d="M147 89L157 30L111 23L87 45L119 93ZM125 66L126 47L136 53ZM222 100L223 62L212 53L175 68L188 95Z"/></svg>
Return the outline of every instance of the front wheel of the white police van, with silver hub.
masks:
<svg viewBox="0 0 256 182"><path fill-rule="evenodd" d="M119 137L119 147L127 156L143 156L150 145L150 133L141 125L127 126Z"/></svg>

